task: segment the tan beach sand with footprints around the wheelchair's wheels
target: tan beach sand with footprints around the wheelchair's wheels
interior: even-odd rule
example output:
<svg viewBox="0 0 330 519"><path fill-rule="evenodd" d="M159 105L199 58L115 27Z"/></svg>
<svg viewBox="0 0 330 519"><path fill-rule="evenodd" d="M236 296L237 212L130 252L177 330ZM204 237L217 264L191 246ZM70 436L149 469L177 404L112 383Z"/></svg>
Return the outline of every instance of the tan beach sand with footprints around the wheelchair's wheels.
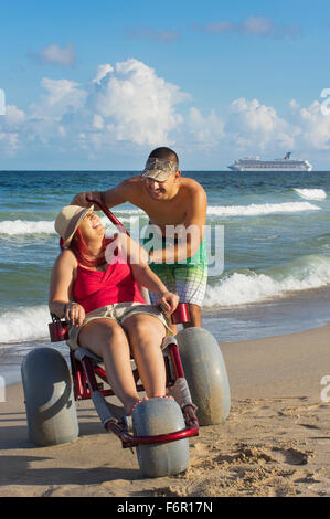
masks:
<svg viewBox="0 0 330 519"><path fill-rule="evenodd" d="M21 384L0 403L0 496L330 496L330 325L222 343L232 410L190 441L177 477L143 479L136 454L104 432L91 401L78 404L81 436L29 443ZM327 400L323 398L323 400Z"/></svg>

